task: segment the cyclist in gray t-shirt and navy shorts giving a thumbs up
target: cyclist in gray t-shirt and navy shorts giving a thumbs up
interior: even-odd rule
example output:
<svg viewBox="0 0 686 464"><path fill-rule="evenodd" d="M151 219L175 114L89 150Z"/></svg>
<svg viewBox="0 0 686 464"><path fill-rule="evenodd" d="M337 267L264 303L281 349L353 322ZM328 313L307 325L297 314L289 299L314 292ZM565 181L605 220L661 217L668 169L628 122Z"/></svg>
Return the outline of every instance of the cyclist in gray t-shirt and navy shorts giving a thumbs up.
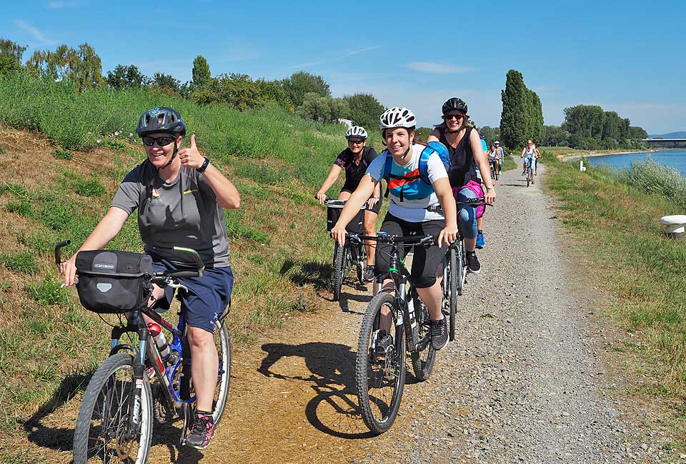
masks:
<svg viewBox="0 0 686 464"><path fill-rule="evenodd" d="M202 277L180 281L189 289L183 303L197 395L195 420L186 441L203 449L214 436L211 411L219 364L212 335L214 320L227 307L234 284L224 208L239 208L240 196L224 174L200 154L195 135L188 148L181 148L186 123L176 110L158 107L146 111L136 133L147 158L121 182L109 211L79 251L104 248L138 208L145 253L152 256L157 271L192 266L174 246L194 248L201 256L205 264ZM75 263L76 253L60 265L67 286L74 284ZM172 289L168 290L154 288L156 306L169 307Z"/></svg>

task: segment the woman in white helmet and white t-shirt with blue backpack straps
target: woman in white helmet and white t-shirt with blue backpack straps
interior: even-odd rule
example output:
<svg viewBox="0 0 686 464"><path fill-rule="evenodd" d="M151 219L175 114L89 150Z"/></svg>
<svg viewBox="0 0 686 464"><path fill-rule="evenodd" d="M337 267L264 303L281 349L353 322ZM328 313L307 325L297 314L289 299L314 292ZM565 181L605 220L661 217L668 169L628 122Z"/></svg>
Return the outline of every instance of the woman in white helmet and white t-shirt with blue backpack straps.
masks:
<svg viewBox="0 0 686 464"><path fill-rule="evenodd" d="M411 271L412 281L417 288L419 298L422 298L429 310L432 346L439 350L447 343L448 336L445 318L441 312L441 283L436 276L437 273L442 272L446 246L457 238L457 218L448 174L437 153L429 156L427 171L430 184L422 178L417 178L412 182L398 180L418 170L419 157L427 146L426 143L415 138L415 126L414 114L409 109L392 108L384 111L379 118L379 128L388 149L367 168L367 173L343 208L331 235L339 244L344 243L345 226L355 216L355 212L362 203L369 198L374 188L378 188L381 179L390 174L393 179L389 181L391 201L381 231L398 236L412 234L424 236L430 233L439 240L438 245L428 249L424 247L414 249ZM384 173L389 157L392 159L389 163L390 172ZM389 271L389 252L389 245L377 246L375 266L377 275ZM384 287L390 283L392 283L390 279L384 281ZM389 341L390 324L391 315L387 309L384 309L381 324L384 332L379 338L379 343L382 345Z"/></svg>

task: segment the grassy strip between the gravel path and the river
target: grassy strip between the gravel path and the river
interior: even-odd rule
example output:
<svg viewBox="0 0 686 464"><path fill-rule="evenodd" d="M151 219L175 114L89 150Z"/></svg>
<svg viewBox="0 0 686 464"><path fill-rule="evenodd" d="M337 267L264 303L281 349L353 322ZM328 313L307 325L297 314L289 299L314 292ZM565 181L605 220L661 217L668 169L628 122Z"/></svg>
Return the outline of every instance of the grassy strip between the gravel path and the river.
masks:
<svg viewBox="0 0 686 464"><path fill-rule="evenodd" d="M587 260L579 271L610 293L604 312L627 331L613 347L636 374L627 393L660 398L670 410L673 446L683 451L686 242L666 238L659 219L686 213L686 178L650 163L620 174L582 173L550 153L545 158L547 189L560 200L558 217Z"/></svg>

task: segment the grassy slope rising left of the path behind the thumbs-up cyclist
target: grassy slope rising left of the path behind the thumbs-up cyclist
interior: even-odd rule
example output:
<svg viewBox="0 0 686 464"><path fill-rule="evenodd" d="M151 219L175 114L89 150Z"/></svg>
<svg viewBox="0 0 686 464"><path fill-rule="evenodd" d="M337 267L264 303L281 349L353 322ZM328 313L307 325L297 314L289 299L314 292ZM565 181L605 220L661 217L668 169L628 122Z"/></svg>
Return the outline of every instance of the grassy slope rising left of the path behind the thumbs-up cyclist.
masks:
<svg viewBox="0 0 686 464"><path fill-rule="evenodd" d="M21 75L0 80L1 462L39 459L36 450L18 457L23 451L12 443L29 432L18 418L39 408L41 418L74 395L78 401L106 356L109 328L81 308L73 289L59 288L52 247L65 238L79 246L104 214L145 156L129 133L157 105L181 112L242 196L242 208L226 211L237 275L234 343L249 343L289 313L322 307L319 291L328 297L332 245L312 193L345 146L344 127L277 109L199 107L150 91L74 94ZM141 250L135 218L109 247Z"/></svg>

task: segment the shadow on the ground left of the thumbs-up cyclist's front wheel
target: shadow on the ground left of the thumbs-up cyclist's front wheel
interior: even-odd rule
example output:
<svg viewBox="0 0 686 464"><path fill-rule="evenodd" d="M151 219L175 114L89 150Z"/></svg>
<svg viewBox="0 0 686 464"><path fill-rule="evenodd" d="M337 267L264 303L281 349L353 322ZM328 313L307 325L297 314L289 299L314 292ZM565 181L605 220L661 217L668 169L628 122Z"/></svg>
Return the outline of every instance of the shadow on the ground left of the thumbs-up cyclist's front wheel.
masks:
<svg viewBox="0 0 686 464"><path fill-rule="evenodd" d="M74 398L76 393L86 390L86 385L88 385L90 378L91 374L67 375L61 381L59 387L56 388L51 398L43 403L30 418L24 420L22 426L26 431L26 438L31 443L35 443L41 448L50 448L57 451L71 450L71 444L74 442L74 428L52 427L44 425L42 421L66 405L71 398ZM57 417L55 420L64 422L64 420L60 420ZM76 423L75 417L72 425L74 423Z"/></svg>

